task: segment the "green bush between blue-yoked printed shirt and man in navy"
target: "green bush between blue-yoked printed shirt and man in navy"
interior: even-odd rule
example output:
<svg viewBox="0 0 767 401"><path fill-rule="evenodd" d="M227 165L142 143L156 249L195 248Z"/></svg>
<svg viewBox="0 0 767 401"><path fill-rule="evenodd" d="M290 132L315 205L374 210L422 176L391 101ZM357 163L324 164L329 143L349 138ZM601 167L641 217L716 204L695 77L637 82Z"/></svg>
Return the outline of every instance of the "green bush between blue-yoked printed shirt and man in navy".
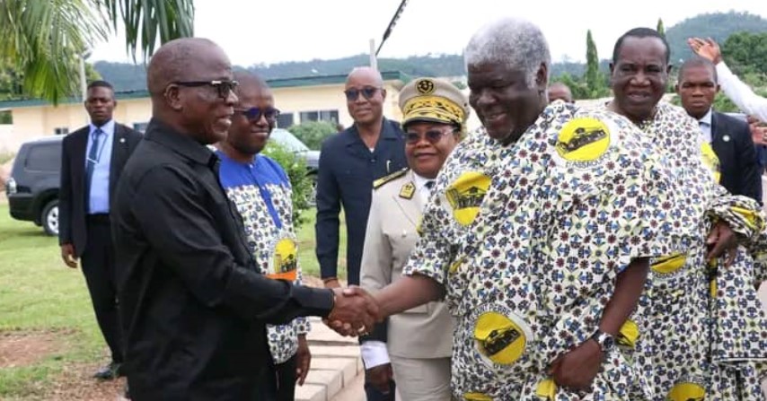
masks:
<svg viewBox="0 0 767 401"><path fill-rule="evenodd" d="M290 179L293 188L293 226L298 229L306 220L302 218L301 212L310 207L309 198L313 191L312 178L306 174L306 162L276 141L269 141L263 154L277 161Z"/></svg>

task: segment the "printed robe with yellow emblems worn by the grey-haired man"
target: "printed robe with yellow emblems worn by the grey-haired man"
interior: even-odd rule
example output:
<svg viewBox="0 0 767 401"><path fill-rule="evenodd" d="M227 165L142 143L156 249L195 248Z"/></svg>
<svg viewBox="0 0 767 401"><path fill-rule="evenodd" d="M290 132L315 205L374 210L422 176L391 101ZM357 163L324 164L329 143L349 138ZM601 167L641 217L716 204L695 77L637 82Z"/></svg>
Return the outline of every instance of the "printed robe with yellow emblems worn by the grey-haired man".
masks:
<svg viewBox="0 0 767 401"><path fill-rule="evenodd" d="M445 286L455 397L584 397L549 364L594 335L632 259L669 252L671 173L649 146L627 119L562 102L516 144L484 130L458 144L405 268ZM622 351L605 356L595 399L650 399Z"/></svg>

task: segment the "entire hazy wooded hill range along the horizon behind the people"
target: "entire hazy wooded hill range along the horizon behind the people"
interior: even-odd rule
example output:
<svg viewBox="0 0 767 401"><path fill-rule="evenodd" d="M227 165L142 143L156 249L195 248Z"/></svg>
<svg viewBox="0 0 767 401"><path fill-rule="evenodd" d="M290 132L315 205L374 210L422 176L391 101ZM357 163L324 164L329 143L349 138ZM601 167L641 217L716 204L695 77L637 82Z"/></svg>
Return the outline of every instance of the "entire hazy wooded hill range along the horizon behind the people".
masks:
<svg viewBox="0 0 767 401"><path fill-rule="evenodd" d="M767 31L767 20L750 13L708 13L701 14L666 29L666 39L671 48L671 60L674 65L680 58L692 56L686 39L692 36L712 37L724 43L727 37L737 31ZM603 55L610 57L609 55ZM367 65L368 56L336 58L332 60L292 61L272 65L236 66L256 72L265 79L295 78L317 75L347 74L354 66ZM606 71L606 60L600 63ZM103 79L115 85L117 91L143 90L146 87L144 65L130 65L100 61L93 67ZM407 58L380 58L378 68L381 71L401 71L410 76L461 76L463 57L461 55L426 55ZM581 63L562 62L551 65L551 75L568 73L580 76L586 70Z"/></svg>

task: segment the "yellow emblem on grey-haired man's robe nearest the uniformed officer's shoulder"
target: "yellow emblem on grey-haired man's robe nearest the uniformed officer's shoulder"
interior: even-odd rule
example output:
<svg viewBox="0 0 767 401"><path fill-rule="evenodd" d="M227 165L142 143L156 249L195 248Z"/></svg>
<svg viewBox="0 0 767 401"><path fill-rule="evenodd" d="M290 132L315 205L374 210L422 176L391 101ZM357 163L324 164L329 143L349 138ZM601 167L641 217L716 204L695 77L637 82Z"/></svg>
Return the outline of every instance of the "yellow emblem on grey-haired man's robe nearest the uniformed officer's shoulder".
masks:
<svg viewBox="0 0 767 401"><path fill-rule="evenodd" d="M489 187L490 178L478 171L464 172L447 187L445 197L457 222L464 226L474 222Z"/></svg>

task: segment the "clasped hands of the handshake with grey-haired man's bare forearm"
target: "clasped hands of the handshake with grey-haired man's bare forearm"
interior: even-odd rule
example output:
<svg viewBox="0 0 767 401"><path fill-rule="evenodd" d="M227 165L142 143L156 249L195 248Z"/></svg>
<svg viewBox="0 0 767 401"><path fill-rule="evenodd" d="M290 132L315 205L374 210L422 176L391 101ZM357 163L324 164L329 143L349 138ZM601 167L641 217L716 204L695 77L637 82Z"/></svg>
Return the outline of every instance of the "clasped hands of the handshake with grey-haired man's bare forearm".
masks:
<svg viewBox="0 0 767 401"><path fill-rule="evenodd" d="M403 310L442 298L444 287L425 275L403 276L375 294L360 287L334 288L334 304L325 324L341 336L366 336L383 321Z"/></svg>

